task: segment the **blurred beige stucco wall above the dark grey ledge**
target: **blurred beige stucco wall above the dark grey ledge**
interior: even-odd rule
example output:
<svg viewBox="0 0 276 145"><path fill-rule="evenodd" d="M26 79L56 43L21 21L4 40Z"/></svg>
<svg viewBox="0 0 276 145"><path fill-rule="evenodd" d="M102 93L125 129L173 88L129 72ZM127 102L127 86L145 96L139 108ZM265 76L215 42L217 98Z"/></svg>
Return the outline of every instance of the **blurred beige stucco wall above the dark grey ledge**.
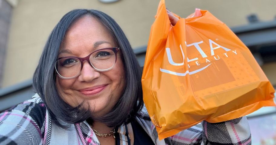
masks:
<svg viewBox="0 0 276 145"><path fill-rule="evenodd" d="M159 0L120 0L111 4L97 0L18 0L11 19L2 87L31 79L48 35L68 11L88 8L107 13L122 27L135 49L147 44L158 3ZM209 10L232 27L247 24L246 16L251 13L262 21L274 19L276 1L167 0L166 4L181 17L195 8Z"/></svg>

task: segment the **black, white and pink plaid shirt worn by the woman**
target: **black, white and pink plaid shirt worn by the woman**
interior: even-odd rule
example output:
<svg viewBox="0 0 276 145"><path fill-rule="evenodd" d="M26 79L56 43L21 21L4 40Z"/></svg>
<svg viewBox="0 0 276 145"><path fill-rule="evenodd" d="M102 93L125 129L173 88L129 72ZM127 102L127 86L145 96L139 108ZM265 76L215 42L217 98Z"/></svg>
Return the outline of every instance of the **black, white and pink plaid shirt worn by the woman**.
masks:
<svg viewBox="0 0 276 145"><path fill-rule="evenodd" d="M156 145L249 145L251 133L246 117L221 123L202 122L202 128L191 127L174 136L159 140L156 128L150 120L145 108L140 112L142 117L136 120L148 133ZM144 116L144 117L143 117ZM127 124L131 127L131 124ZM118 129L121 142L126 139L126 125ZM0 145L4 144L79 144L99 145L99 141L89 124L71 124L69 130L57 127L51 121L47 107L38 94L31 100L12 107L0 114Z"/></svg>

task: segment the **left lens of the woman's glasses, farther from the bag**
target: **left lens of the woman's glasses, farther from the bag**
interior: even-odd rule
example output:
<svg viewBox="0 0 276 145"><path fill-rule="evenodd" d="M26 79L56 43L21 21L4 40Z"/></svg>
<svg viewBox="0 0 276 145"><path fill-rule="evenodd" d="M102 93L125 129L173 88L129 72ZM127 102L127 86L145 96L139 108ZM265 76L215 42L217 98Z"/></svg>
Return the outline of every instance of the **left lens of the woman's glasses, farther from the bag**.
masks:
<svg viewBox="0 0 276 145"><path fill-rule="evenodd" d="M70 78L80 73L81 63L77 58L62 58L56 62L55 66L60 76Z"/></svg>

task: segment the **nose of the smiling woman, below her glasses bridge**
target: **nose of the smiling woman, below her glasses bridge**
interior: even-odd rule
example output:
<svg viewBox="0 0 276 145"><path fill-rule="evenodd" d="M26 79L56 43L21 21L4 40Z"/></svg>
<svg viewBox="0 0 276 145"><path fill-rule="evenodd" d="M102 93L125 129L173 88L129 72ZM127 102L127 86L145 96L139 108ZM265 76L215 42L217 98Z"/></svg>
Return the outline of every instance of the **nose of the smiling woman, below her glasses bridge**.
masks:
<svg viewBox="0 0 276 145"><path fill-rule="evenodd" d="M78 80L85 81L85 82L91 82L98 77L100 77L100 72L96 71L93 67L91 67L89 62L84 61L82 70L78 77Z"/></svg>

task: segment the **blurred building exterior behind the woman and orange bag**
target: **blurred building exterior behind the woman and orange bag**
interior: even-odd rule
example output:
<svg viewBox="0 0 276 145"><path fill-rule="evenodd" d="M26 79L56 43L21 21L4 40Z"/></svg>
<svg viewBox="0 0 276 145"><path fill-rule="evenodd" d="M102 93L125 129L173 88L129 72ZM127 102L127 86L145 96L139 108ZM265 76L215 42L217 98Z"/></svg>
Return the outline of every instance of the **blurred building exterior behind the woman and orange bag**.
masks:
<svg viewBox="0 0 276 145"><path fill-rule="evenodd" d="M121 26L141 66L159 0L0 0L0 111L34 94L32 75L51 30L72 9L97 9ZM167 0L185 18L195 8L210 11L250 49L276 87L275 0ZM248 115L252 144L276 144L276 108Z"/></svg>

